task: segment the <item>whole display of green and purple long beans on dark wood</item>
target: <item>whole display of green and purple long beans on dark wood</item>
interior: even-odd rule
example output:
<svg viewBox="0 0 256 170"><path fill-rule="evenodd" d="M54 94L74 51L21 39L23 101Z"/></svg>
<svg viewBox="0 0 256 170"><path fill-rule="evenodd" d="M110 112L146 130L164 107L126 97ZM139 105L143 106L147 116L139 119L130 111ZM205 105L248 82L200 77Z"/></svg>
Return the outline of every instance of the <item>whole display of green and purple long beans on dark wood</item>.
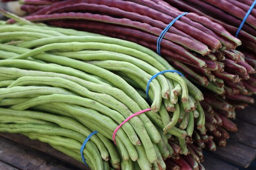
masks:
<svg viewBox="0 0 256 170"><path fill-rule="evenodd" d="M235 110L254 103L253 1L20 3L25 19L2 11L0 131L85 155L92 169L201 170L202 148L225 146ZM34 112L79 128L23 115Z"/></svg>

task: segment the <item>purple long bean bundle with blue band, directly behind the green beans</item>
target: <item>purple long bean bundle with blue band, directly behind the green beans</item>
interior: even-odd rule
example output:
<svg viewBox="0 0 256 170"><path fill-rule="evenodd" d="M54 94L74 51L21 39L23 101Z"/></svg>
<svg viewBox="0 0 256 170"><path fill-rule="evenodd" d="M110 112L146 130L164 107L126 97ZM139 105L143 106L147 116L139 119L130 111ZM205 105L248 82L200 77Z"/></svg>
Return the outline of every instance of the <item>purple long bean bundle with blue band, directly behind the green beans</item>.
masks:
<svg viewBox="0 0 256 170"><path fill-rule="evenodd" d="M39 11L27 10L27 20L101 33L154 51L162 30L183 13L162 0L64 0L52 4L31 1L22 3L30 5L29 9L47 6ZM247 80L255 72L255 60L245 59L243 53L235 50L240 44L219 23L188 13L166 33L160 52L189 79L216 94L248 95L256 92Z"/></svg>

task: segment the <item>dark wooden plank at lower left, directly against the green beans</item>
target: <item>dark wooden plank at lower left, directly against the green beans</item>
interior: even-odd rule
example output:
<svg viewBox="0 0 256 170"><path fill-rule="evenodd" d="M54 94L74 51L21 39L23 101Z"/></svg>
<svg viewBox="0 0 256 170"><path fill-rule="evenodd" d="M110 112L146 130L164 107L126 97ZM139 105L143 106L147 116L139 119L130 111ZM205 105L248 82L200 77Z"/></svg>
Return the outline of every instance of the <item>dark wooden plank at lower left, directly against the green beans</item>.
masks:
<svg viewBox="0 0 256 170"><path fill-rule="evenodd" d="M12 141L16 141L20 144L23 144L25 146L29 146L30 148L34 148L36 150L39 150L41 152L46 153L47 155L50 155L51 157L54 157L58 160L61 160L63 162L69 163L72 166L75 166L82 170L90 170L88 166L85 166L84 163L81 163L79 161L76 161L75 159L72 159L71 157L63 154L62 152L52 148L52 146L40 142L38 140L31 140L28 137L21 135L21 134L11 134L11 133L0 133L0 136L3 136L5 138L11 139Z"/></svg>

